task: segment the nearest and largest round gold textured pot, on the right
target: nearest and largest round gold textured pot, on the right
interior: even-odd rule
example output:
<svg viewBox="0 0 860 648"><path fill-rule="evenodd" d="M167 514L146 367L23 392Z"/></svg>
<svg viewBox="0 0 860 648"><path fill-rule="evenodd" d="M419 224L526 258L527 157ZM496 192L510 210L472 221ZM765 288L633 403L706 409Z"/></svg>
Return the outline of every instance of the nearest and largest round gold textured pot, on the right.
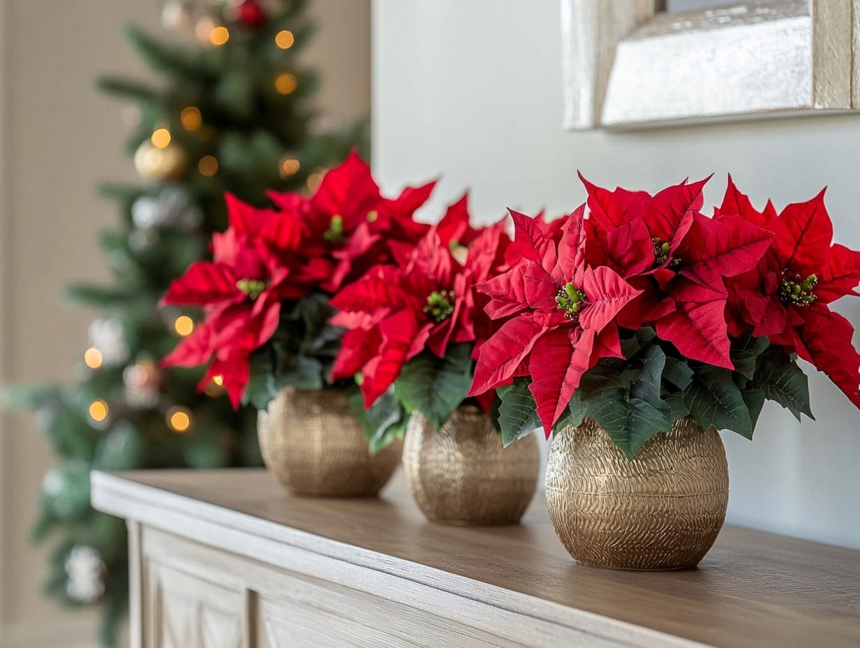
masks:
<svg viewBox="0 0 860 648"><path fill-rule="evenodd" d="M606 431L586 419L553 440L546 501L556 534L582 563L693 567L726 517L726 451L716 429L685 417L627 460Z"/></svg>

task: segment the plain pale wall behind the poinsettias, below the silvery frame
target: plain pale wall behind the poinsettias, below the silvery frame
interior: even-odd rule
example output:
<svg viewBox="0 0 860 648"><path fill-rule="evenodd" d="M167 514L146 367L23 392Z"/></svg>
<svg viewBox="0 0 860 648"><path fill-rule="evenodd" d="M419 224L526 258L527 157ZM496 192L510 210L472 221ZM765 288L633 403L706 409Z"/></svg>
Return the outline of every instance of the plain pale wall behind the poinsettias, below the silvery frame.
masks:
<svg viewBox="0 0 860 648"><path fill-rule="evenodd" d="M860 116L563 133L558 0L375 0L372 46L373 164L391 189L443 174L427 218L467 186L484 222L569 212L576 170L649 190L716 172L716 204L731 171L759 205L830 185L837 238L860 247ZM860 324L860 300L840 310ZM860 548L860 413L823 374L810 391L815 422L768 404L753 443L724 433L729 521Z"/></svg>

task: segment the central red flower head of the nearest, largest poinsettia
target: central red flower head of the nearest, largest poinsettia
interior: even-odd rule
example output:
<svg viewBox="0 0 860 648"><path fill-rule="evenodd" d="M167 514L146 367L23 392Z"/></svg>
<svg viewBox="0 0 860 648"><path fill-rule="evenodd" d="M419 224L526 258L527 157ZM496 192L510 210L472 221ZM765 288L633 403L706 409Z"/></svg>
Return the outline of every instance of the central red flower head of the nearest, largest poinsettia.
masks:
<svg viewBox="0 0 860 648"><path fill-rule="evenodd" d="M729 358L725 277L754 268L773 235L759 224L700 212L707 182L682 182L654 196L583 179L588 259L606 263L642 290L619 315L636 330L654 326L685 357L734 368Z"/></svg>

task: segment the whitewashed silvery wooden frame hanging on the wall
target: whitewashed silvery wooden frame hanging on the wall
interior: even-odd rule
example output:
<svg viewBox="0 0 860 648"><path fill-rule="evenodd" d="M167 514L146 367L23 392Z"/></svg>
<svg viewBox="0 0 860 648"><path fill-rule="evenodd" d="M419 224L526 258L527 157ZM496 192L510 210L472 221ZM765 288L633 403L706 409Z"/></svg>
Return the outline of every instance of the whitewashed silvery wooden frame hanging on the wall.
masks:
<svg viewBox="0 0 860 648"><path fill-rule="evenodd" d="M860 108L860 0L661 5L561 0L566 129Z"/></svg>

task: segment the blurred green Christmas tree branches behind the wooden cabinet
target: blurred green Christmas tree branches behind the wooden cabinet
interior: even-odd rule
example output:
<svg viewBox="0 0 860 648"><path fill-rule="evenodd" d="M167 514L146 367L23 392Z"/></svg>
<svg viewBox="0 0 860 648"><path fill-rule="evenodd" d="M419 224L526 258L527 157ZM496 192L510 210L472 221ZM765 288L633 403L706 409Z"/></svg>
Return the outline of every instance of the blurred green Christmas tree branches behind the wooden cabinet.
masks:
<svg viewBox="0 0 860 648"><path fill-rule="evenodd" d="M311 132L320 80L316 71L304 69L300 55L314 28L304 17L306 0L279 5L259 29L230 28L230 42L223 47L161 40L128 28L132 46L163 76L163 83L107 76L98 86L140 108L140 123L127 138L130 157L155 128L168 127L171 145L184 151L187 168L169 180L154 176L140 186L102 187L101 194L115 202L118 216L117 226L100 240L112 281L65 289L70 299L99 310L100 318L120 321L127 358L108 359L106 354L95 368L85 367L82 358L75 367L76 380L68 386L22 386L5 393L9 404L39 412L38 423L56 457L33 528L34 541L53 543L46 593L73 608L88 605L71 597L65 564L76 546L93 547L106 567L104 595L97 602L102 610L99 636L106 646L116 644L128 604L126 535L122 521L90 507L89 472L261 465L255 410L235 412L226 398L197 392L200 368L160 370L157 402L130 400L134 390L126 371L139 369L136 363L141 361L157 362L175 348L180 337L173 323L179 313L200 321L201 313L193 310L160 311L158 300L189 264L208 258L212 232L226 225L224 192L264 205L268 189L304 190L311 173L338 164L354 147L367 152L366 121L336 133ZM274 46L281 29L294 34L289 50ZM284 72L297 77L297 87L288 95L273 85ZM190 106L202 114L199 130L183 127L181 111ZM198 170L200 158L207 155L218 159L214 176ZM301 168L281 177L279 164L287 155L297 157ZM144 195L157 201L168 186L181 188L188 203L200 209L200 226L192 231L164 223L137 230L132 219L135 201ZM88 346L82 340L82 356ZM95 401L104 401L109 412L101 421L91 417ZM169 428L166 412L174 406L187 408L193 417L194 425L185 434ZM390 426L384 433L398 430Z"/></svg>

